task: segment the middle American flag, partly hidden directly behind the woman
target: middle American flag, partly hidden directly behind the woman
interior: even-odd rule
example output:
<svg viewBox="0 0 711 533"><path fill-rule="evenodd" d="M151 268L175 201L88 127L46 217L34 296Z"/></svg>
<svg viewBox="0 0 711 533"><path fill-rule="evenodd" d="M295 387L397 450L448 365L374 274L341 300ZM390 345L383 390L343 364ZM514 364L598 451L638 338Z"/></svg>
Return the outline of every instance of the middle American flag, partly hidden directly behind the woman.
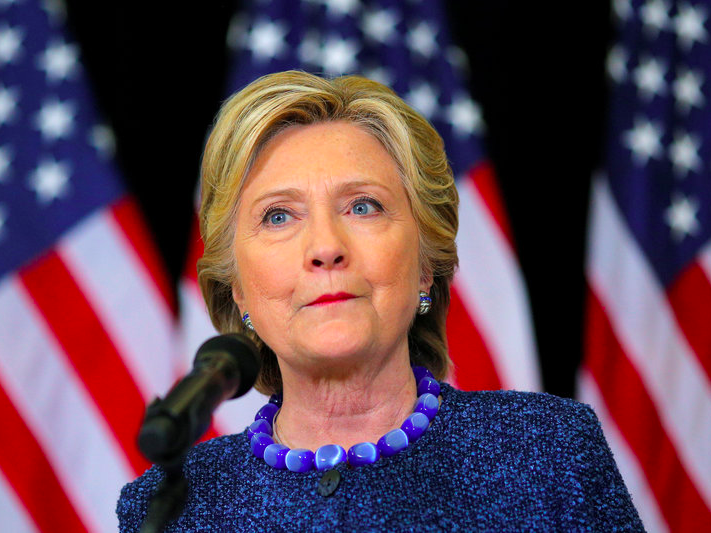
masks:
<svg viewBox="0 0 711 533"><path fill-rule="evenodd" d="M466 57L452 44L444 6L430 1L254 0L234 18L228 39L234 61L228 93L287 69L327 76L358 73L390 86L433 123L444 138L461 195L460 270L448 320L455 364L450 381L470 390L539 389L526 290L496 177L482 147L481 111L464 86ZM204 303L195 282L197 236L193 243L181 289L181 308L192 320L185 328L190 332L187 353L212 331L201 318ZM227 430L241 430L252 414L229 403L221 409L217 423Z"/></svg>

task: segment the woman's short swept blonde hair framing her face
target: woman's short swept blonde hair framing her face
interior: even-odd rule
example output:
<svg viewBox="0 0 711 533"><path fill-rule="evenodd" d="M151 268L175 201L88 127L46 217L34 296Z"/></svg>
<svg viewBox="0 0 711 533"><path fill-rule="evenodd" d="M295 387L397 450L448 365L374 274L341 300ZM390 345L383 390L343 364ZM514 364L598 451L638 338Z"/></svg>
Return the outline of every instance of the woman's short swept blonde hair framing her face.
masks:
<svg viewBox="0 0 711 533"><path fill-rule="evenodd" d="M417 223L420 265L432 276L432 308L416 315L408 334L410 360L437 378L449 370L445 331L449 287L457 266L459 197L444 143L435 129L384 85L360 76L324 79L301 71L263 76L220 109L202 160L200 232L205 252L198 282L212 323L221 333L242 332L259 346L257 389L281 390L272 350L242 324L232 297L235 214L245 178L260 150L292 125L346 121L378 139L398 166Z"/></svg>

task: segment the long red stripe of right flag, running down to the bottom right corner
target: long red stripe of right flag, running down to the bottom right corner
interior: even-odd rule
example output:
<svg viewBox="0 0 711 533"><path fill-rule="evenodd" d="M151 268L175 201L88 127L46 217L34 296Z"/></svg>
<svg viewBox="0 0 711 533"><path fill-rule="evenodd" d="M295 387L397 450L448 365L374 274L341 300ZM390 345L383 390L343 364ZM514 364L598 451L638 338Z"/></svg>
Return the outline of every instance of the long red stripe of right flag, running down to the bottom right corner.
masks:
<svg viewBox="0 0 711 533"><path fill-rule="evenodd" d="M652 399L592 291L586 350L586 364L620 433L637 456L667 524L677 532L705 530L711 524L711 511L679 461Z"/></svg>

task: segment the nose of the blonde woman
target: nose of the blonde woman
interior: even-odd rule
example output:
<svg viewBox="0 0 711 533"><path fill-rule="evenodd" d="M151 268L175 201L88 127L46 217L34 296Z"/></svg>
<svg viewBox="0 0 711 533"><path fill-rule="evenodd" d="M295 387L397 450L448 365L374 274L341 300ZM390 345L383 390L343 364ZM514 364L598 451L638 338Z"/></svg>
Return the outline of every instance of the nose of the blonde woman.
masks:
<svg viewBox="0 0 711 533"><path fill-rule="evenodd" d="M334 270L347 266L346 235L337 218L319 217L309 224L304 255L307 270Z"/></svg>

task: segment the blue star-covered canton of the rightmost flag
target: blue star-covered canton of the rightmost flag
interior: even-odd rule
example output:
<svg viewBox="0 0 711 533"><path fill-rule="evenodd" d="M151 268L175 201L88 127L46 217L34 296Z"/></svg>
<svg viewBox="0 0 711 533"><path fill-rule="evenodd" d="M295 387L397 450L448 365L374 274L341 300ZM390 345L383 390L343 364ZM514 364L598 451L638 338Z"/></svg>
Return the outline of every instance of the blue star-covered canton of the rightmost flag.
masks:
<svg viewBox="0 0 711 533"><path fill-rule="evenodd" d="M607 169L664 285L711 239L711 2L618 0Z"/></svg>

